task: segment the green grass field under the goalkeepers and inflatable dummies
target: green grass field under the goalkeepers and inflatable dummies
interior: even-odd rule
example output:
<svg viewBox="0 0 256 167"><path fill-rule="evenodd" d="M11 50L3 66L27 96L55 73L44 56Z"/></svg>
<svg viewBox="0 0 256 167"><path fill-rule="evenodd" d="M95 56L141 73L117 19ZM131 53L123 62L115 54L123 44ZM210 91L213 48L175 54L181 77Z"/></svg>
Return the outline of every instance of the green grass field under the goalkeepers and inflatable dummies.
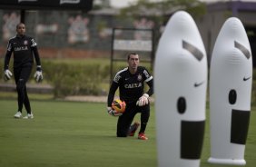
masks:
<svg viewBox="0 0 256 167"><path fill-rule="evenodd" d="M115 137L116 118L106 113L105 103L32 100L31 104L33 120L14 119L16 101L0 98L1 167L157 166L153 106L146 131L149 140L140 141ZM252 107L245 150L247 167L256 163L255 111ZM139 121L138 116L135 119ZM209 138L207 118L201 166L230 167L207 162Z"/></svg>

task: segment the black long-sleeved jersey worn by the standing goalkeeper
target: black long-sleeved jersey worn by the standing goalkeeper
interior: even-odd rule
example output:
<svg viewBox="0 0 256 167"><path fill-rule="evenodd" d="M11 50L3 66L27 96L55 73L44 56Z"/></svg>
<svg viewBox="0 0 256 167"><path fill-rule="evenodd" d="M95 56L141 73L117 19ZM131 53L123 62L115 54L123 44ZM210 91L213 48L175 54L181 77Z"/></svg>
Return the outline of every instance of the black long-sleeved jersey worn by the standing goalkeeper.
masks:
<svg viewBox="0 0 256 167"><path fill-rule="evenodd" d="M30 36L18 36L11 38L7 45L5 54L5 70L9 67L12 53L14 53L14 68L24 65L33 65L34 59L37 65L41 65L37 44Z"/></svg>

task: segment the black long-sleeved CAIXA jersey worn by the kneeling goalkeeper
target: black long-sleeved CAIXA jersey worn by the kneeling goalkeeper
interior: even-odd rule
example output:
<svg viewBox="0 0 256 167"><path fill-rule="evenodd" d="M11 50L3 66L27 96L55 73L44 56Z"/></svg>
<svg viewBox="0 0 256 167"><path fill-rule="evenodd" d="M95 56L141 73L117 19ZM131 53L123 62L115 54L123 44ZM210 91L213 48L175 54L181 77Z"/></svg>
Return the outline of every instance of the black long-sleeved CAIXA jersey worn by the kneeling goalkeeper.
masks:
<svg viewBox="0 0 256 167"><path fill-rule="evenodd" d="M149 85L148 94L153 94L153 76L143 66L138 66L137 72L131 74L128 67L119 71L113 78L109 95L108 106L113 102L114 93L119 87L120 99L125 103L135 103L143 95L144 83Z"/></svg>

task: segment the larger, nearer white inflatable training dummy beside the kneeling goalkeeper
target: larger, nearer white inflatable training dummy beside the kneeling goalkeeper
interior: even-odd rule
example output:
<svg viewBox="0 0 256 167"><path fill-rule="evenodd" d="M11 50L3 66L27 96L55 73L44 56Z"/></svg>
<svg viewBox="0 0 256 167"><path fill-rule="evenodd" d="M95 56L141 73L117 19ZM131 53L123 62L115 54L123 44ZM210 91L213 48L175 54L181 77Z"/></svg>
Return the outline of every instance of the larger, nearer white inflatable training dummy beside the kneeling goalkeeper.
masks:
<svg viewBox="0 0 256 167"><path fill-rule="evenodd" d="M154 64L158 164L198 167L202 152L207 57L192 16L172 15Z"/></svg>

